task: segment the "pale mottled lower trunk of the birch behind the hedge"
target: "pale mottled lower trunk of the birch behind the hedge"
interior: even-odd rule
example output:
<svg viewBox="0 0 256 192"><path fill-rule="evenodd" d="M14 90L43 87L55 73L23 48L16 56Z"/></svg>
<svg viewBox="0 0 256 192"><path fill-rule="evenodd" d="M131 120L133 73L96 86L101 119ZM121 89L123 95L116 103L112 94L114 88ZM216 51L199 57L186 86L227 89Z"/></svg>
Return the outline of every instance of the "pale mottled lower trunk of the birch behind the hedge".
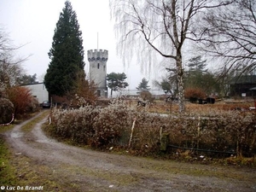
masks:
<svg viewBox="0 0 256 192"><path fill-rule="evenodd" d="M177 53L177 99L180 113L185 111L184 106L184 82L183 82L183 62L181 53Z"/></svg>

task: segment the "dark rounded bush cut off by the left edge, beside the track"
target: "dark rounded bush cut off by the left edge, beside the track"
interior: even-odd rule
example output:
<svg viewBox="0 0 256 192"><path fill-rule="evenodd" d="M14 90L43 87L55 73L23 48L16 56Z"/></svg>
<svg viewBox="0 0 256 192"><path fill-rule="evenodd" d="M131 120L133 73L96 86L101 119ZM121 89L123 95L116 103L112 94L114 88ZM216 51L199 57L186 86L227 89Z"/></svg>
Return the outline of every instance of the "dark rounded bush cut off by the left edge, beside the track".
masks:
<svg viewBox="0 0 256 192"><path fill-rule="evenodd" d="M9 123L14 112L14 104L9 99L0 98L0 124Z"/></svg>

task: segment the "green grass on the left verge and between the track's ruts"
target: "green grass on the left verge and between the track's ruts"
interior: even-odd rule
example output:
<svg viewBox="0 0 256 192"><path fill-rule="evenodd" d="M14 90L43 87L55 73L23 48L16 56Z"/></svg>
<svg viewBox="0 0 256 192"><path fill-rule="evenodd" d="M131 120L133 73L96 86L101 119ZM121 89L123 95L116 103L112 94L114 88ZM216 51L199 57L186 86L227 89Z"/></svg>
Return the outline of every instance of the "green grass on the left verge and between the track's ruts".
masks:
<svg viewBox="0 0 256 192"><path fill-rule="evenodd" d="M44 119L49 111L45 111L36 119L22 127L22 131L28 132ZM37 113L33 114L36 115ZM22 121L20 121L22 122ZM0 127L0 186L44 186L44 191L65 191L61 184L55 183L55 176L48 166L38 165L38 162L23 155L15 155L5 143L3 134L11 130L15 125ZM54 189L54 190L52 190Z"/></svg>

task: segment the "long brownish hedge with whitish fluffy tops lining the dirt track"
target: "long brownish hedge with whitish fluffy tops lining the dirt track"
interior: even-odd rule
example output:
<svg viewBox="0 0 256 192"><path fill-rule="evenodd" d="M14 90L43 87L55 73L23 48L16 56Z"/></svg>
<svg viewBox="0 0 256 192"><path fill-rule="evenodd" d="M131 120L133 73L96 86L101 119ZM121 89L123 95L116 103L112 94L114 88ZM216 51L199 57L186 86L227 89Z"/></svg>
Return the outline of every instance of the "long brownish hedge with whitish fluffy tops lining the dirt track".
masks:
<svg viewBox="0 0 256 192"><path fill-rule="evenodd" d="M170 144L177 148L204 148L239 156L256 154L254 113L212 109L201 114L163 116L137 111L125 101L114 100L106 108L54 109L51 116L55 135L95 148L130 147L140 154L156 154L160 151L162 127L162 134L168 134ZM128 146L134 119L131 146Z"/></svg>

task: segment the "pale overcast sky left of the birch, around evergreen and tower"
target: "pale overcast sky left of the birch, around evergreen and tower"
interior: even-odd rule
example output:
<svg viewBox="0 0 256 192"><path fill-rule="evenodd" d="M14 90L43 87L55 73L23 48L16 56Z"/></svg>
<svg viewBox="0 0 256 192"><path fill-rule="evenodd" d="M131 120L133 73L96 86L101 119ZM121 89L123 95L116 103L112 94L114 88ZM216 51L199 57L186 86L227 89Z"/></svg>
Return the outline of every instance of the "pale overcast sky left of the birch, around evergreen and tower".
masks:
<svg viewBox="0 0 256 192"><path fill-rule="evenodd" d="M23 63L27 74L37 73L39 81L49 65L48 52L51 48L56 22L66 0L0 0L0 27L9 33L17 46L26 44L17 55L32 55ZM131 63L123 67L116 55L116 39L110 20L108 0L71 0L77 13L84 40L85 72L88 72L87 50L108 49L107 73L125 73L130 89L135 89L143 77L140 67ZM150 82L153 79L149 79Z"/></svg>

